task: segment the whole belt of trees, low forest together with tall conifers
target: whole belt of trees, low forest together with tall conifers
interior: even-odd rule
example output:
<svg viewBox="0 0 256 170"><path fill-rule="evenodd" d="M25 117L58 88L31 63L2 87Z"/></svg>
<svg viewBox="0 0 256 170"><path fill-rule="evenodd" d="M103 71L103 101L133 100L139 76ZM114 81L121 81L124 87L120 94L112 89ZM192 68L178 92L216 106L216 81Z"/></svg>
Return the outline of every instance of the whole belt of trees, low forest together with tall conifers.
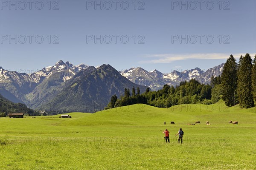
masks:
<svg viewBox="0 0 256 170"><path fill-rule="evenodd" d="M250 108L256 105L256 55L252 60L247 53L240 57L239 63L230 55L221 76L212 76L210 85L191 79L189 82L180 82L176 87L164 85L159 91L147 88L143 94L140 94L140 88L137 88L137 93L135 87L132 92L125 88L124 96L118 99L113 95L105 109L137 103L169 108L180 104L212 104L220 99L227 106L239 103L241 108Z"/></svg>

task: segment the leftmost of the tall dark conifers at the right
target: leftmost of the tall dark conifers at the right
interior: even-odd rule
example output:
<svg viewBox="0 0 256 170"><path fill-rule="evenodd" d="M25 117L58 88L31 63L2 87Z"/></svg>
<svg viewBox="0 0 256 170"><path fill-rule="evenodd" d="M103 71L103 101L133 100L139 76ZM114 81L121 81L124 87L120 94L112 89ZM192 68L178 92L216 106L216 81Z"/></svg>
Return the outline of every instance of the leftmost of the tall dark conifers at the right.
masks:
<svg viewBox="0 0 256 170"><path fill-rule="evenodd" d="M227 106L236 105L237 64L231 54L221 74L221 94Z"/></svg>

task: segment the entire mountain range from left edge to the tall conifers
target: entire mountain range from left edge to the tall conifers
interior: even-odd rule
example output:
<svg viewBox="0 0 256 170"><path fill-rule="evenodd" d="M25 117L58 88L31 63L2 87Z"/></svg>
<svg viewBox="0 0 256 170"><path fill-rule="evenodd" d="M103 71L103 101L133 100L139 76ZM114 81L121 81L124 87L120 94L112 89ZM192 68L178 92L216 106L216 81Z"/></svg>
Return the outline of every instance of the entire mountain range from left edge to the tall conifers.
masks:
<svg viewBox="0 0 256 170"><path fill-rule="evenodd" d="M118 72L111 65L95 68L62 60L32 74L0 67L0 94L38 110L95 112L104 109L112 95L123 95L125 88L139 87L143 93L147 87L158 90L164 84L179 85L192 78L209 83L212 76L221 75L223 65L205 72L195 68L170 74L140 67Z"/></svg>

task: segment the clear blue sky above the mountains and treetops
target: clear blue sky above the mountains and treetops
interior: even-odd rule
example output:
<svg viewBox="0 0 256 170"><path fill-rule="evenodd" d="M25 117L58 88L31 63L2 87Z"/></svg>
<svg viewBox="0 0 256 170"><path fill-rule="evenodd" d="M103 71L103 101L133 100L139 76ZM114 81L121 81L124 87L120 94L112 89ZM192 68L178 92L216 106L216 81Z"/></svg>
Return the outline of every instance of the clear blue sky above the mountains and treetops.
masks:
<svg viewBox="0 0 256 170"><path fill-rule="evenodd" d="M170 73L256 53L255 0L11 2L0 1L0 65L12 71L62 59Z"/></svg>

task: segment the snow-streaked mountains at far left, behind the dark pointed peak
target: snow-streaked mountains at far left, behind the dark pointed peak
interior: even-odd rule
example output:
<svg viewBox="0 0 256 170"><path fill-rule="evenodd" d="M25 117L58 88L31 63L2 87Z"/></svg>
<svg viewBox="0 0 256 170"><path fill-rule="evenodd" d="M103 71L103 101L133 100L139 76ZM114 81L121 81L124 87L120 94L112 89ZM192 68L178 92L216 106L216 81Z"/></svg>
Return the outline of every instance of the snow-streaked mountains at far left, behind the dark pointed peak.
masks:
<svg viewBox="0 0 256 170"><path fill-rule="evenodd" d="M76 73L88 67L88 65L84 64L74 66L70 62L64 63L62 60L54 66L43 68L32 74L7 71L0 67L0 92L12 102L24 102L31 105L30 101L35 99L35 97L38 100L40 99L40 95L36 91L49 93L52 88L67 81ZM38 85L40 87L43 86L45 89L40 89ZM34 100L33 103L35 103Z"/></svg>

